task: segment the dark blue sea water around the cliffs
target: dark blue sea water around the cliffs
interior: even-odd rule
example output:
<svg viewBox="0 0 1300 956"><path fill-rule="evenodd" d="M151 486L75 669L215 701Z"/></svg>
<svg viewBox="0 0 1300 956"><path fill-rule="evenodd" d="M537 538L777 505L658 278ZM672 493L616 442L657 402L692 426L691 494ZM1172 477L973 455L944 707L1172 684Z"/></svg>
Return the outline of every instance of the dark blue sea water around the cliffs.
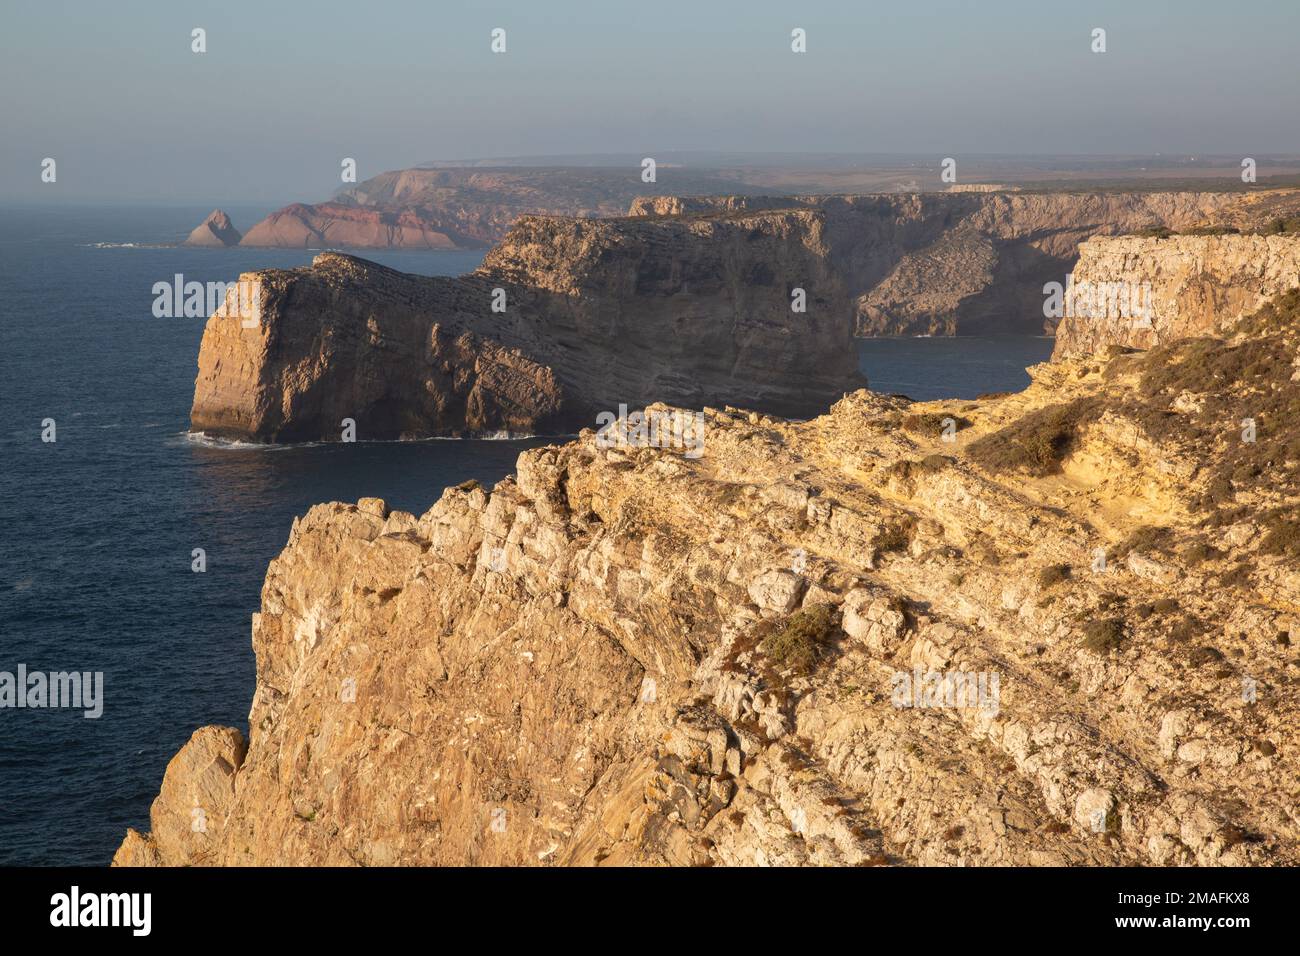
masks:
<svg viewBox="0 0 1300 956"><path fill-rule="evenodd" d="M250 615L295 515L367 496L421 512L443 486L495 481L545 444L191 440L203 320L155 319L153 284L313 255L159 247L209 211L0 208L0 671L103 671L105 697L99 719L0 709L0 864L107 864L126 827L147 829L166 762L196 727L247 730ZM239 228L269 212L228 211ZM421 274L481 258L365 255ZM861 343L872 388L918 399L1022 388L1049 351L1035 338Z"/></svg>

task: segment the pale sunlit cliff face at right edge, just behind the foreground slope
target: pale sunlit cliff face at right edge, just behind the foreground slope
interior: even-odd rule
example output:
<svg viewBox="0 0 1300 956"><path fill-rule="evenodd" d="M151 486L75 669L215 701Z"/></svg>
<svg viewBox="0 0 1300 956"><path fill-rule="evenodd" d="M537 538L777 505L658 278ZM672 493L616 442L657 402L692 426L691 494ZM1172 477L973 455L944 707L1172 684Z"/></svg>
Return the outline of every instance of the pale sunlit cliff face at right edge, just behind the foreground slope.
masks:
<svg viewBox="0 0 1300 956"><path fill-rule="evenodd" d="M1300 237L1089 239L1079 247L1074 286L1080 304L1062 319L1053 358L1113 345L1149 349L1214 333L1300 286Z"/></svg>

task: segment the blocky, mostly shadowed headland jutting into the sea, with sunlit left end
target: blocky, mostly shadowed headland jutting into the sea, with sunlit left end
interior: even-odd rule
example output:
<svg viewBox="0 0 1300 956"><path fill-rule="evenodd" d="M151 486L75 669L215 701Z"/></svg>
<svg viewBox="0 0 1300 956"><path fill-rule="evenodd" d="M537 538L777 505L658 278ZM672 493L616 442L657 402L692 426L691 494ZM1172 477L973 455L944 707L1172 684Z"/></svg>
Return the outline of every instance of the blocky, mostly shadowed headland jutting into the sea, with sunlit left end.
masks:
<svg viewBox="0 0 1300 956"><path fill-rule="evenodd" d="M460 278L337 254L248 273L255 313L231 317L228 299L204 330L191 427L255 441L337 440L343 419L363 440L555 433L654 401L814 415L861 384L824 229L815 209L524 217Z"/></svg>

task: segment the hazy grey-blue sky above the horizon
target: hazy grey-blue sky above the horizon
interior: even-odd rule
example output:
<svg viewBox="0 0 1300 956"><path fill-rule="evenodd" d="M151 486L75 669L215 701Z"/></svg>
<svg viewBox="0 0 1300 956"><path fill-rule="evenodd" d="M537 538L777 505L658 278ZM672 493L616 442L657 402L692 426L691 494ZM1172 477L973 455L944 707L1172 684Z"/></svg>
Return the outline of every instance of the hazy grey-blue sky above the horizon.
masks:
<svg viewBox="0 0 1300 956"><path fill-rule="evenodd" d="M1297 0L5 0L0 198L311 202L346 156L1300 152L1297 38Z"/></svg>

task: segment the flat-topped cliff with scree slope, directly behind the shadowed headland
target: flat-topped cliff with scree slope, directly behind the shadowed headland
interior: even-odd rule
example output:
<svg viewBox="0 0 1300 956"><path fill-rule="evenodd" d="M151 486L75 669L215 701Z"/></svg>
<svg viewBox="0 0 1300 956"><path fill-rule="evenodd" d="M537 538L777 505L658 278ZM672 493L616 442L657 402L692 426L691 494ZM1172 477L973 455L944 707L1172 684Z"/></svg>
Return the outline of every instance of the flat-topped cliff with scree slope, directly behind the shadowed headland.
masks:
<svg viewBox="0 0 1300 956"><path fill-rule="evenodd" d="M832 263L862 336L1050 332L1043 286L1065 284L1079 243L1147 226L1249 228L1300 194L948 193L878 196L655 198L632 215L707 215L800 203L827 215Z"/></svg>

